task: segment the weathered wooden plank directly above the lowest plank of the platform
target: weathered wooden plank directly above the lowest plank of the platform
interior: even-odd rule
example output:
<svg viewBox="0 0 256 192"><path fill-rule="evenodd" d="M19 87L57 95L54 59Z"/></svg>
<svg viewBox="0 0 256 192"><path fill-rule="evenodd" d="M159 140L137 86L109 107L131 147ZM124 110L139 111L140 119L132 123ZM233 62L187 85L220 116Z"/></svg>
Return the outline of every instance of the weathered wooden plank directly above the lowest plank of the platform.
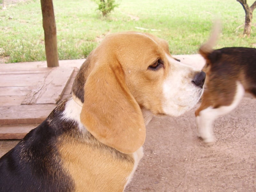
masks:
<svg viewBox="0 0 256 192"><path fill-rule="evenodd" d="M0 106L0 124L42 123L57 105Z"/></svg>

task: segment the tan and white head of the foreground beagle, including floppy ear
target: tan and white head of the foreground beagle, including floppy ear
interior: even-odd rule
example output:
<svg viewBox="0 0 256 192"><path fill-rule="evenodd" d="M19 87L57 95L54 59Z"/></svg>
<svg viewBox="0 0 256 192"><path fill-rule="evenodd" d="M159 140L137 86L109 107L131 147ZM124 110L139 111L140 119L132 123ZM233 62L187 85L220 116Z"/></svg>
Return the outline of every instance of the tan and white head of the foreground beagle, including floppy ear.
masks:
<svg viewBox="0 0 256 192"><path fill-rule="evenodd" d="M72 88L81 122L100 142L132 153L145 140L141 109L179 116L203 92L205 74L171 55L166 41L146 33L107 36L81 66Z"/></svg>

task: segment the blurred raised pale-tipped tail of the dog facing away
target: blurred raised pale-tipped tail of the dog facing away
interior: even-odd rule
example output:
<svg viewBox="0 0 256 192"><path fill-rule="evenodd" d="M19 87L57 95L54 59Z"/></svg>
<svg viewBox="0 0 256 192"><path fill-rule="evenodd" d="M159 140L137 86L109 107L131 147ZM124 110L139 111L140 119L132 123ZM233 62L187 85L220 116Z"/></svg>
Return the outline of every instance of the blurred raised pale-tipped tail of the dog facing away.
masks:
<svg viewBox="0 0 256 192"><path fill-rule="evenodd" d="M212 34L209 38L209 40L203 44L200 48L199 48L199 53L204 57L207 58L207 56L209 55L209 53L211 53L213 51L213 47L215 46L219 34L220 34L220 20L216 20L214 22L214 26L212 28Z"/></svg>

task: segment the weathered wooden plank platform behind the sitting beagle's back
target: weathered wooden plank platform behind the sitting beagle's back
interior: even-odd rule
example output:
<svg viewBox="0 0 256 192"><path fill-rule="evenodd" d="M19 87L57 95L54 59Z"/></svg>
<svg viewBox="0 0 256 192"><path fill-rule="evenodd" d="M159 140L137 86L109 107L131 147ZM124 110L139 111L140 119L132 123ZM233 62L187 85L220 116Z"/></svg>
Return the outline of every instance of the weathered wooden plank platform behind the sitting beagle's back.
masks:
<svg viewBox="0 0 256 192"><path fill-rule="evenodd" d="M66 88L71 89L74 71L74 67L0 71L0 139L22 139L42 123Z"/></svg>

